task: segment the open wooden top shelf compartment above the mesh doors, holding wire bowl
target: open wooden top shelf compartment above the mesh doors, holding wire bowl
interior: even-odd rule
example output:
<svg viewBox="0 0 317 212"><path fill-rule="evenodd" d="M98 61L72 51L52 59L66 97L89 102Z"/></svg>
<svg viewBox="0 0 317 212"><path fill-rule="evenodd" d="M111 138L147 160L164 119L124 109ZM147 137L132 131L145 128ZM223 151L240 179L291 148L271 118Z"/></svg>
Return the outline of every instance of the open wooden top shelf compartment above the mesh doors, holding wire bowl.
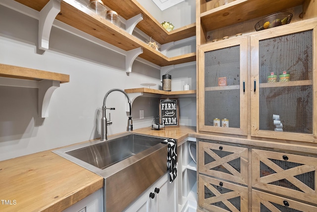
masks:
<svg viewBox="0 0 317 212"><path fill-rule="evenodd" d="M272 13L290 11L294 15L292 22L313 18L317 13L314 0L229 0L224 5L219 5L217 1L196 1L198 45L221 40L225 36L254 32L255 24ZM295 13L298 14L295 16Z"/></svg>

